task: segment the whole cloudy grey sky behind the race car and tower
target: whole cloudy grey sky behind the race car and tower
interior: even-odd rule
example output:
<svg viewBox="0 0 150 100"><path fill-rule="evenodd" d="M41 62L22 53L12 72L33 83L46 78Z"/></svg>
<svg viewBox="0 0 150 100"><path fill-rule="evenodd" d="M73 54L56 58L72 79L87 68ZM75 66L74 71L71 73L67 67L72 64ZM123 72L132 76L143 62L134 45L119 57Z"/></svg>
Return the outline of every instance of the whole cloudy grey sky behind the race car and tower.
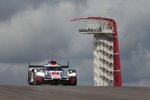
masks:
<svg viewBox="0 0 150 100"><path fill-rule="evenodd" d="M148 0L0 0L0 84L27 84L28 61L56 59L93 85L93 36L73 18L101 16L118 26L123 86L150 86Z"/></svg>

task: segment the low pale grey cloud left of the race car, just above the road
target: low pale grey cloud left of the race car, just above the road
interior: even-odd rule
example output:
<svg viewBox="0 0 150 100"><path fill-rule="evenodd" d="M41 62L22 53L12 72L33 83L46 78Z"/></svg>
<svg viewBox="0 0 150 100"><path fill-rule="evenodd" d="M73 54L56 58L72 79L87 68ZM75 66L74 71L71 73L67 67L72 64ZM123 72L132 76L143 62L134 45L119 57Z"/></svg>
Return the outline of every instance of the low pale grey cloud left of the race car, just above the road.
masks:
<svg viewBox="0 0 150 100"><path fill-rule="evenodd" d="M27 84L27 64L0 64L0 84Z"/></svg>

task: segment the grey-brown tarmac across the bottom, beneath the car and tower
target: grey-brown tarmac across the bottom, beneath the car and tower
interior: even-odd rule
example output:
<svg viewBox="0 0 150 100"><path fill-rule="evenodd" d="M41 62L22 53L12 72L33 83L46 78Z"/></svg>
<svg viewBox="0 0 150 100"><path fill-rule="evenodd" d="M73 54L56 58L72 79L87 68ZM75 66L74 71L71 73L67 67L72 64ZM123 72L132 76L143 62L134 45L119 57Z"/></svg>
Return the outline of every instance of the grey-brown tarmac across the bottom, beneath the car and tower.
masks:
<svg viewBox="0 0 150 100"><path fill-rule="evenodd" d="M0 85L0 100L150 100L150 88Z"/></svg>

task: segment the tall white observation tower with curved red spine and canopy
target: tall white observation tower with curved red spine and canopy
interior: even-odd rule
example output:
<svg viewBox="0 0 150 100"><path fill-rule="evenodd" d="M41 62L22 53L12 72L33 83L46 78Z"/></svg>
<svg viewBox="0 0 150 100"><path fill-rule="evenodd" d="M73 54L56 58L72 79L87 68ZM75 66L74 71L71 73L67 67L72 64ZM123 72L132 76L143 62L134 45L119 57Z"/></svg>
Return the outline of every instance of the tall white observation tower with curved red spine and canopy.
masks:
<svg viewBox="0 0 150 100"><path fill-rule="evenodd" d="M122 86L117 25L113 19L83 17L79 32L94 35L94 85Z"/></svg>

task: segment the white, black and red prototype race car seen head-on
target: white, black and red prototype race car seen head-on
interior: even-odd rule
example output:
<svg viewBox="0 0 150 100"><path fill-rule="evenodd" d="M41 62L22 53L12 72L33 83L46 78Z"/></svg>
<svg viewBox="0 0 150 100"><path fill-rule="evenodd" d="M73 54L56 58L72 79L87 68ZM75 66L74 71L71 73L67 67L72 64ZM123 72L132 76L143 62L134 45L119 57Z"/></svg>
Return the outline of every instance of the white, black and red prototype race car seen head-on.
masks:
<svg viewBox="0 0 150 100"><path fill-rule="evenodd" d="M45 65L30 65L28 68L29 85L62 84L77 85L76 70L61 66L55 60L50 60Z"/></svg>

